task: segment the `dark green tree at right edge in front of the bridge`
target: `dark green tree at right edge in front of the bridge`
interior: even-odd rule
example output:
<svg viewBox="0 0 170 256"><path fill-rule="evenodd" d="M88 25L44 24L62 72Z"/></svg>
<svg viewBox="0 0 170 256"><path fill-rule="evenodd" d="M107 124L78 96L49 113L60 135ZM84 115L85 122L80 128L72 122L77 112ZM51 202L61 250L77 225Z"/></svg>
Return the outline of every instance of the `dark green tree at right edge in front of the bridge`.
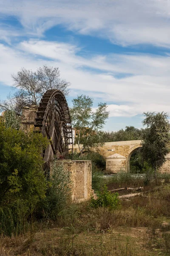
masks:
<svg viewBox="0 0 170 256"><path fill-rule="evenodd" d="M144 113L143 125L146 130L143 134L141 154L143 160L154 169L155 178L157 170L165 162L165 156L170 152L170 124L167 113Z"/></svg>

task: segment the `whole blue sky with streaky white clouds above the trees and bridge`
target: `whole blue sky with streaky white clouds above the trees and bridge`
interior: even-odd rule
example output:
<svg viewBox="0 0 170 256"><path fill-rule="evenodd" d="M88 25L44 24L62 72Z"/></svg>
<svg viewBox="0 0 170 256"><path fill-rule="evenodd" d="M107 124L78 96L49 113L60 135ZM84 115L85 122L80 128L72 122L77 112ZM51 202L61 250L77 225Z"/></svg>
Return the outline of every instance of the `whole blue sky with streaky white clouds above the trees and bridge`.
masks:
<svg viewBox="0 0 170 256"><path fill-rule="evenodd" d="M0 99L22 67L59 67L68 104L106 102L106 131L170 115L170 0L1 0Z"/></svg>

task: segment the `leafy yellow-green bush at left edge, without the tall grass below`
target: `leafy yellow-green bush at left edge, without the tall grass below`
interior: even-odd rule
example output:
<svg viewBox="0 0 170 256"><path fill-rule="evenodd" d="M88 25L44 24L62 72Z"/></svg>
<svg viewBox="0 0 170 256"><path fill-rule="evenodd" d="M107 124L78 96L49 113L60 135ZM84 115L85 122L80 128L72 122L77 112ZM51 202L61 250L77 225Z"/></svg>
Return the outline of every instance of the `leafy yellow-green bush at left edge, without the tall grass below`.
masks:
<svg viewBox="0 0 170 256"><path fill-rule="evenodd" d="M28 202L33 212L37 201L45 197L40 152L46 145L41 134L25 134L0 123L0 204L20 198Z"/></svg>

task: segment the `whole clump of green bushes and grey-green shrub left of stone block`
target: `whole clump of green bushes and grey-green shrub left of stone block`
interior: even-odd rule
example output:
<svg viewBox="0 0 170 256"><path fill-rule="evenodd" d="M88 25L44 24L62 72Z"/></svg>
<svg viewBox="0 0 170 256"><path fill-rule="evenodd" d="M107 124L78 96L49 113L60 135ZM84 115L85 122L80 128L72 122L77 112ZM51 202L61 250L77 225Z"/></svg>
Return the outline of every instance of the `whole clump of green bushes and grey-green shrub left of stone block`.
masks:
<svg viewBox="0 0 170 256"><path fill-rule="evenodd" d="M54 220L70 199L70 173L53 163L46 177L41 134L25 134L0 123L0 233L11 236L28 230L37 219Z"/></svg>

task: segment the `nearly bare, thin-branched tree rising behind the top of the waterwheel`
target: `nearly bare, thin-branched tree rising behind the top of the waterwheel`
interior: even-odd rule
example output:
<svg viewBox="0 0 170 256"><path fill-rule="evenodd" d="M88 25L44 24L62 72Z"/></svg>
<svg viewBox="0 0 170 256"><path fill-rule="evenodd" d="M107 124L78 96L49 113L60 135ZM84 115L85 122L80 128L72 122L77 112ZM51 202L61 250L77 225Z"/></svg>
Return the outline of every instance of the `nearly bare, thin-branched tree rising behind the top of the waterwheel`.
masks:
<svg viewBox="0 0 170 256"><path fill-rule="evenodd" d="M0 102L0 110L12 110L21 115L24 106L38 105L42 95L51 89L61 90L66 96L69 93L69 82L60 78L58 67L44 65L35 72L22 68L17 75L12 75L13 88L17 88L14 96Z"/></svg>

